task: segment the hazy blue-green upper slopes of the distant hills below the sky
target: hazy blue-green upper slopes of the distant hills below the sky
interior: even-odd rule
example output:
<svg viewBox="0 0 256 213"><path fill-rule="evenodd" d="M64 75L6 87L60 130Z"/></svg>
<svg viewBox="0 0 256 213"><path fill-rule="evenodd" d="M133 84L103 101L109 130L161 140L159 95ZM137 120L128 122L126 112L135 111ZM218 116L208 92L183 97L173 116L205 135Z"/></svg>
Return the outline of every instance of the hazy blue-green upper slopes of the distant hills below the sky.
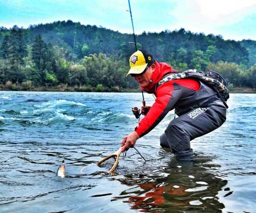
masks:
<svg viewBox="0 0 256 213"><path fill-rule="evenodd" d="M10 30L1 28L0 42L4 35ZM54 23L38 24L23 29L24 41L31 44L36 35L41 35L46 43L58 45L65 48L71 58L75 38L75 55L77 59L85 55L98 54L102 52L106 55L120 54L124 57L134 51L132 43L133 37L130 34L122 34L103 27L82 25L71 20L57 21ZM143 32L137 35L137 42L140 48L147 49L159 61L182 61L191 66L191 56L201 50L204 53L209 46L215 47L215 52L211 55L211 62L227 61L253 65L256 63L256 41L224 40L221 35L204 35L203 33L191 33L184 29L160 33ZM84 49L83 49L84 47ZM212 49L211 49L212 50Z"/></svg>

